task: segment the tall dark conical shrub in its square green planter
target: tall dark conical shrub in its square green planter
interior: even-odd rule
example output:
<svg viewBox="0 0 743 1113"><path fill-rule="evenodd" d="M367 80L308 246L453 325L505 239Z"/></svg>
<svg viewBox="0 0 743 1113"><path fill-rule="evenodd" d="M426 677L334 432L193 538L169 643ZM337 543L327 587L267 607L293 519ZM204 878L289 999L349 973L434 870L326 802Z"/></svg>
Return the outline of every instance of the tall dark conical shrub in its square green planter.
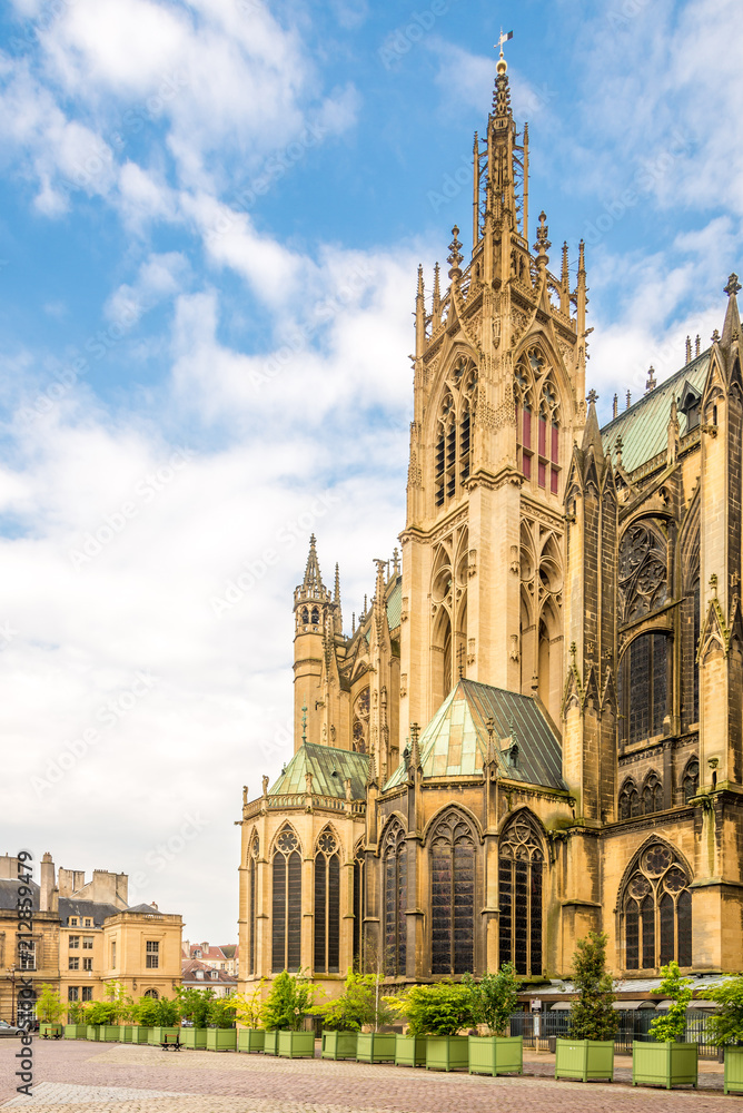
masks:
<svg viewBox="0 0 743 1113"><path fill-rule="evenodd" d="M606 969L604 932L588 932L573 955L573 981L578 991L569 1017L569 1037L555 1042L555 1077L614 1077L614 1037L618 1017L612 975Z"/></svg>

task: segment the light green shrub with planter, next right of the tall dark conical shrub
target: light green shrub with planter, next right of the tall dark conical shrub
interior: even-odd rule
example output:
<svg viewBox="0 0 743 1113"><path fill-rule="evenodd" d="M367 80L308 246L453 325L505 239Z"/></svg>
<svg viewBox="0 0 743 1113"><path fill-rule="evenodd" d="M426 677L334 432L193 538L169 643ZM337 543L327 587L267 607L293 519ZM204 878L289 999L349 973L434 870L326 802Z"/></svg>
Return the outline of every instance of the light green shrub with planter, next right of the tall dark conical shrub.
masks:
<svg viewBox="0 0 743 1113"><path fill-rule="evenodd" d="M663 981L658 986L673 1004L665 1016L657 1016L651 1024L655 1043L632 1044L632 1085L694 1086L697 1085L699 1046L684 1043L686 1034L686 1006L692 999L688 978L682 978L677 963L661 966Z"/></svg>

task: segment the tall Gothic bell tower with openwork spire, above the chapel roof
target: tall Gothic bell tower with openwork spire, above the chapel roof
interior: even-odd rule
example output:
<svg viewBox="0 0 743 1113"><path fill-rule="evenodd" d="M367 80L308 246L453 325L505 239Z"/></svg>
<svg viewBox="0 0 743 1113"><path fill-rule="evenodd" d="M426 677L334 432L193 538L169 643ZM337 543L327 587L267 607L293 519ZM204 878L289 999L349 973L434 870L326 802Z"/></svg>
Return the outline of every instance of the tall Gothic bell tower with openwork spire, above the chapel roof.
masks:
<svg viewBox="0 0 743 1113"><path fill-rule="evenodd" d="M548 269L546 216L528 243L528 130L501 53L485 141L475 135L473 247L450 285L416 296L414 420L402 534L400 723L427 722L459 676L535 693L559 719L563 492L585 424L583 245ZM404 742L404 738L402 738Z"/></svg>

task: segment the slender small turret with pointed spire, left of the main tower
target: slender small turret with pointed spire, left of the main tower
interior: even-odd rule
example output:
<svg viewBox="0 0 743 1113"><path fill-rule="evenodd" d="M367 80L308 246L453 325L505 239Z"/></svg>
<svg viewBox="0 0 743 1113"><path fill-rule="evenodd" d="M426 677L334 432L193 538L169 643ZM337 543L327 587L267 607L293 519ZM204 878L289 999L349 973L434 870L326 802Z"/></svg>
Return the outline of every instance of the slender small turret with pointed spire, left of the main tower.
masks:
<svg viewBox="0 0 743 1113"><path fill-rule="evenodd" d="M339 609L338 602L338 609ZM305 579L294 591L294 745L295 751L303 739L303 708L307 708L306 735L308 742L319 742L321 716L316 705L321 702L323 653L326 633L333 633L336 605L328 588L323 583L317 559L316 539L309 539L309 554ZM329 630L328 630L329 624Z"/></svg>

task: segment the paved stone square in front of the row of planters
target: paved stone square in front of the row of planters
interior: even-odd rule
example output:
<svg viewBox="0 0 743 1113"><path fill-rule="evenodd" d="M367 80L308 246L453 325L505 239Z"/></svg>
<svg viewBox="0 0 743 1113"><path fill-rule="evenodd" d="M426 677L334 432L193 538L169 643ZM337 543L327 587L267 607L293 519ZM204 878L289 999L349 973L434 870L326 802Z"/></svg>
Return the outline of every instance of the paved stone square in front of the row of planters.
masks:
<svg viewBox="0 0 743 1113"><path fill-rule="evenodd" d="M524 1077L434 1074L389 1065L284 1060L264 1055L33 1041L34 1096L16 1093L14 1055L0 1043L0 1107L34 1113L678 1113L731 1109L722 1067L701 1063L700 1090L628 1085L631 1062L617 1056L616 1081L555 1082L554 1058L527 1053ZM734 1104L732 1104L734 1109Z"/></svg>

